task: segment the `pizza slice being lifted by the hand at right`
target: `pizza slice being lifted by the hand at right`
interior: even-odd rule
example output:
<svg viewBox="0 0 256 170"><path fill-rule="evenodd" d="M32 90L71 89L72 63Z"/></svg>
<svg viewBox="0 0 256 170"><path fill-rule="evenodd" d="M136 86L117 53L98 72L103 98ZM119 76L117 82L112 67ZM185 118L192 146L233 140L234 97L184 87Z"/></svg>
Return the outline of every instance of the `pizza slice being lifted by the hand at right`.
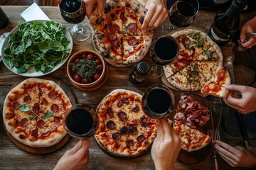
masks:
<svg viewBox="0 0 256 170"><path fill-rule="evenodd" d="M228 89L225 89L223 84L230 84L230 75L225 67L221 67L218 72L203 85L201 93L210 94L225 98L228 95Z"/></svg>

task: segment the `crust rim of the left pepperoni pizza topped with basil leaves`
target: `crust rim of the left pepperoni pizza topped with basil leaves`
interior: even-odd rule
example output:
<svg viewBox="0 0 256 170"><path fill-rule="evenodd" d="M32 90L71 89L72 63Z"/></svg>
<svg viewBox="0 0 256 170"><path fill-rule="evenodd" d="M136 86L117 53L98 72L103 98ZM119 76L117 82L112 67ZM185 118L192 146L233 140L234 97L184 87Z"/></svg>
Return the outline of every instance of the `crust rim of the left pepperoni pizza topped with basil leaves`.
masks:
<svg viewBox="0 0 256 170"><path fill-rule="evenodd" d="M11 126L13 124L9 124L9 121L6 120L6 111L8 111L8 109L9 109L7 107L7 103L9 102L9 97L12 96L12 93L14 91L21 90L21 87L24 86L24 84L28 84L30 82L38 82L38 83L50 84L50 85L54 86L55 89L58 89L58 91L60 91L63 94L63 96L65 97L65 100L69 103L69 106L70 107L72 106L72 103L70 102L70 99L68 98L67 94L65 94L65 91L63 91L63 89L61 89L60 86L58 86L58 84L56 84L54 81L50 81L50 80L46 80L46 79L38 79L38 78L29 78L29 79L22 81L17 86L15 86L14 89L11 89L11 91L9 91L9 93L6 95L6 98L4 99L4 106L3 106L4 125L6 127L6 130L16 140L18 140L18 142L21 142L24 145L28 145L29 147L51 147L51 146L57 144L58 142L60 142L60 140L62 140L63 137L65 137L65 135L67 134L63 125L58 127L57 132L51 133L51 135L49 137L47 137L46 140L37 139L36 141L29 141L28 139L25 139L25 140L21 139L19 137L18 127L13 128Z"/></svg>

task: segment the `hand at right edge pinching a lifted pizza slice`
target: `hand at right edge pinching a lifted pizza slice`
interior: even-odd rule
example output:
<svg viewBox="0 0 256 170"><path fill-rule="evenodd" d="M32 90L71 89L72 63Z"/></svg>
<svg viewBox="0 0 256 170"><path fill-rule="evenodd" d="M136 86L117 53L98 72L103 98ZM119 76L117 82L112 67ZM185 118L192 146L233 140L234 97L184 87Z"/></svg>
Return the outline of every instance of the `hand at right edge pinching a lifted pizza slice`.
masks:
<svg viewBox="0 0 256 170"><path fill-rule="evenodd" d="M223 87L230 90L227 98L223 98L223 101L239 111L240 113L250 113L256 111L256 89L250 86L240 86L240 85L227 85L223 84ZM233 95L234 91L238 91L242 98L235 98Z"/></svg>

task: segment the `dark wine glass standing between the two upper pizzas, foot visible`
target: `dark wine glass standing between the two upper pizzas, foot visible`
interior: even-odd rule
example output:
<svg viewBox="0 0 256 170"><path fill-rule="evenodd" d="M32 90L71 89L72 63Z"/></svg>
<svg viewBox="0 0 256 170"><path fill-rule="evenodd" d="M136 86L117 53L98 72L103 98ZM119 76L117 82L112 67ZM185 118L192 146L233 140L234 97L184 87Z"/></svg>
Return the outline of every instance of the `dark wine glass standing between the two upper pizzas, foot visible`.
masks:
<svg viewBox="0 0 256 170"><path fill-rule="evenodd" d="M149 72L150 77L161 77L164 73L162 66L174 61L178 57L178 52L178 42L170 35L154 40L150 47L150 56L155 64Z"/></svg>

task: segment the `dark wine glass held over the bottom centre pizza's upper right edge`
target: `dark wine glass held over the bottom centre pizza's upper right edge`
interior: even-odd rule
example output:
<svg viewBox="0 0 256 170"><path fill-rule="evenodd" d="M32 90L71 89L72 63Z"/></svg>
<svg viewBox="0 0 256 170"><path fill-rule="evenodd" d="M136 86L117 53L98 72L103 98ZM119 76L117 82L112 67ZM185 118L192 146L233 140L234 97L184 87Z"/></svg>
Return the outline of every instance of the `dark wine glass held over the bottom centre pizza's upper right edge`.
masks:
<svg viewBox="0 0 256 170"><path fill-rule="evenodd" d="M164 118L174 111L174 106L174 94L164 85L151 86L143 94L142 107L151 118Z"/></svg>

